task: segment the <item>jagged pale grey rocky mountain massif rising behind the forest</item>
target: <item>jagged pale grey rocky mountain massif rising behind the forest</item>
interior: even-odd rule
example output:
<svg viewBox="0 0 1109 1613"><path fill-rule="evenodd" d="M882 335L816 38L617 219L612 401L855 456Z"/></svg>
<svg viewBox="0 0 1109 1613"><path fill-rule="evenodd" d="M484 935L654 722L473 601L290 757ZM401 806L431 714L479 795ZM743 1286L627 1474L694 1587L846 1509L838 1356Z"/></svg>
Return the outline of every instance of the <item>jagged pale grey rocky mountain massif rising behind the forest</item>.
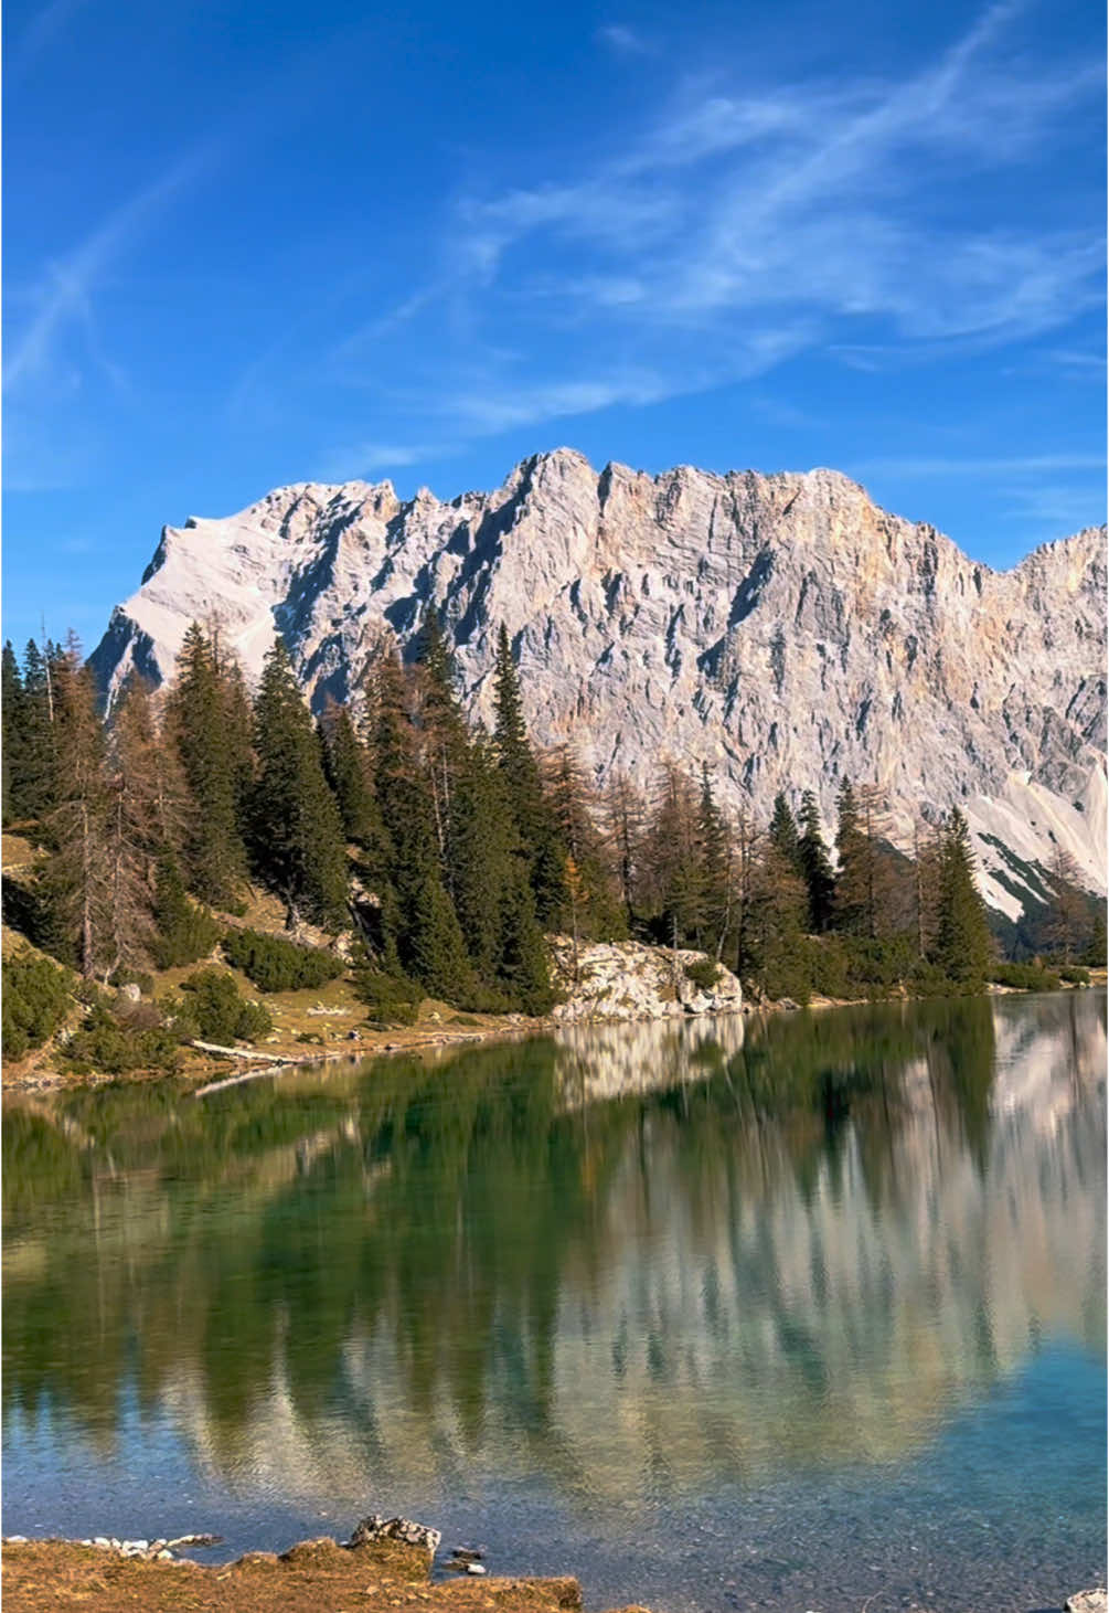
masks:
<svg viewBox="0 0 1109 1613"><path fill-rule="evenodd" d="M309 482L168 526L92 661L108 698L132 668L158 684L218 619L248 674L280 632L321 708L430 603L471 710L490 716L503 621L535 739L598 781L708 761L730 805L812 787L830 816L848 776L904 847L922 808L962 805L1009 916L1056 844L1106 889L1104 527L998 573L835 471L598 474L559 448L447 503Z"/></svg>

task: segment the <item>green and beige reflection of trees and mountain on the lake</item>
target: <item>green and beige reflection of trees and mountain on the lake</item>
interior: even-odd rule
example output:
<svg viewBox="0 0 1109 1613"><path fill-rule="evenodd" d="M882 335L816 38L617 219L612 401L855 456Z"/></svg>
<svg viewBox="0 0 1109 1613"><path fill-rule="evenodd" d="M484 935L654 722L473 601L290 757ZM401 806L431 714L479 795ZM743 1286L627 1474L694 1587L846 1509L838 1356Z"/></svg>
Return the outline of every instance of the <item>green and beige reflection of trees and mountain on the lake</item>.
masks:
<svg viewBox="0 0 1109 1613"><path fill-rule="evenodd" d="M1104 1348L1104 1048L1069 994L13 1105L5 1407L351 1505L896 1460Z"/></svg>

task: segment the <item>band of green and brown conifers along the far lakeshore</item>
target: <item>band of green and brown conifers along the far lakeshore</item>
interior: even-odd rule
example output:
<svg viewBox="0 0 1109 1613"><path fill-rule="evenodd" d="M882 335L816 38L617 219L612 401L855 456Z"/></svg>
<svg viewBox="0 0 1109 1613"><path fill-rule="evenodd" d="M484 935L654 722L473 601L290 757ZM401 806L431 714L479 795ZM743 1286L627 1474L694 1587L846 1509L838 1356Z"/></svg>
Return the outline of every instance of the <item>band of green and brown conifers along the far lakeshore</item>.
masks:
<svg viewBox="0 0 1109 1613"><path fill-rule="evenodd" d="M169 1068L213 1027L256 1037L266 1010L231 1002L221 958L263 994L350 974L385 1024L424 998L546 1013L546 934L695 948L709 976L722 963L754 1000L796 1003L1057 984L1043 960L1074 979L1104 963L1104 916L1062 852L1003 961L957 808L906 857L866 782L841 781L829 827L801 779L766 824L671 760L596 790L571 745L532 744L503 627L493 689L488 732L434 611L408 660L385 647L318 719L280 639L250 690L218 627L193 623L168 689L132 676L108 719L76 639L23 660L5 645L3 821L34 848L5 882L5 924L31 942L5 945L5 1050L53 1034L63 977L87 1008L71 1057L89 1068ZM260 890L282 934L242 923ZM108 987L148 997L153 974L192 966L160 1011L113 1016Z"/></svg>

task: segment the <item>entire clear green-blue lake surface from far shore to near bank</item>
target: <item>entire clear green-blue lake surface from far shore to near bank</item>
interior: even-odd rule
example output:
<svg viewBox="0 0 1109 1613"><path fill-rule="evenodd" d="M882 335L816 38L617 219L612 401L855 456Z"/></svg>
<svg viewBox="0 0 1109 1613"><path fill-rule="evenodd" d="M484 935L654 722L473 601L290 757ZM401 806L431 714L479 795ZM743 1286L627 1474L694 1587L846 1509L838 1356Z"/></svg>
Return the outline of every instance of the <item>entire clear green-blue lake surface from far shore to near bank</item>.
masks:
<svg viewBox="0 0 1109 1613"><path fill-rule="evenodd" d="M403 1511L590 1607L1059 1607L1104 1063L1085 992L13 1103L5 1529Z"/></svg>

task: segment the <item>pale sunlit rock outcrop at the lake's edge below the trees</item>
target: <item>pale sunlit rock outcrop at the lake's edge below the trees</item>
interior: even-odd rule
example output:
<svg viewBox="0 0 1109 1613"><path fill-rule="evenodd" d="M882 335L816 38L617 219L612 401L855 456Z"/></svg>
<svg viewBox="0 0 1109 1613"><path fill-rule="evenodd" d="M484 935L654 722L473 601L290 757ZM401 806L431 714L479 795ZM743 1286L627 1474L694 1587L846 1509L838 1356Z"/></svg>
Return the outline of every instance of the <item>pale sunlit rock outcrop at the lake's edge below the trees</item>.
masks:
<svg viewBox="0 0 1109 1613"><path fill-rule="evenodd" d="M735 1013L743 1007L737 977L703 952L646 947L637 940L575 947L569 936L554 936L551 961L554 986L566 995L553 1010L554 1019L669 1019Z"/></svg>

